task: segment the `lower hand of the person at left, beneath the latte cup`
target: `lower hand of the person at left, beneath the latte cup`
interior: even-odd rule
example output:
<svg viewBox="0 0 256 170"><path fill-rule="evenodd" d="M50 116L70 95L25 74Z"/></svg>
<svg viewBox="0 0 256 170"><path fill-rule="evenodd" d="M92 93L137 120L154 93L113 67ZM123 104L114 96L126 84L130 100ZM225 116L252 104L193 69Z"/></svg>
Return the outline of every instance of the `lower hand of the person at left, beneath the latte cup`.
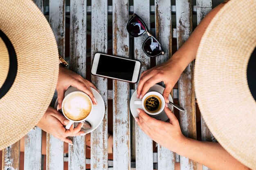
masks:
<svg viewBox="0 0 256 170"><path fill-rule="evenodd" d="M85 135L85 132L80 131L83 123L77 125L76 128L74 128L74 125L72 125L69 130L66 130L65 125L67 125L68 122L69 120L66 119L56 109L49 107L38 122L37 126L45 132L52 134L54 137L72 144L72 141L66 137L79 135L82 136Z"/></svg>

